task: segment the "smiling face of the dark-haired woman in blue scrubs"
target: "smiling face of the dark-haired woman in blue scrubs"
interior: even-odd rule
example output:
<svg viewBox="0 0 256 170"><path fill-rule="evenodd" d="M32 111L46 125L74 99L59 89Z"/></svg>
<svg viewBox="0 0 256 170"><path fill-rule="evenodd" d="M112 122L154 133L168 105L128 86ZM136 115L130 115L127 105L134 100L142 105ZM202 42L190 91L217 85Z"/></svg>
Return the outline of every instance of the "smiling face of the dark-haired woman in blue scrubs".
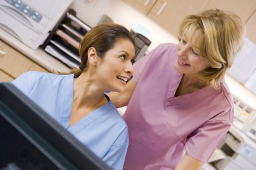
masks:
<svg viewBox="0 0 256 170"><path fill-rule="evenodd" d="M99 59L97 77L106 91L122 92L133 74L131 60L135 55L133 43L127 39L119 39L113 48Z"/></svg>

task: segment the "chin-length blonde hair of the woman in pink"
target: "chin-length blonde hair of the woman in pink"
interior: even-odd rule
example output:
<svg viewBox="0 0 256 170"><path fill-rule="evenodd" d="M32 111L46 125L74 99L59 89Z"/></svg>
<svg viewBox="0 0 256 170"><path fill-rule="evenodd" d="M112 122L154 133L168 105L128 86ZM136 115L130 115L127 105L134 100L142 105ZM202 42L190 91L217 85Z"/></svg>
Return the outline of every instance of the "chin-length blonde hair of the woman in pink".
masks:
<svg viewBox="0 0 256 170"><path fill-rule="evenodd" d="M234 56L243 46L245 24L235 13L208 9L183 19L179 39L187 31L201 32L197 34L199 51L210 62L210 68L197 73L197 77L206 81L208 86L218 89L226 70L232 66Z"/></svg>

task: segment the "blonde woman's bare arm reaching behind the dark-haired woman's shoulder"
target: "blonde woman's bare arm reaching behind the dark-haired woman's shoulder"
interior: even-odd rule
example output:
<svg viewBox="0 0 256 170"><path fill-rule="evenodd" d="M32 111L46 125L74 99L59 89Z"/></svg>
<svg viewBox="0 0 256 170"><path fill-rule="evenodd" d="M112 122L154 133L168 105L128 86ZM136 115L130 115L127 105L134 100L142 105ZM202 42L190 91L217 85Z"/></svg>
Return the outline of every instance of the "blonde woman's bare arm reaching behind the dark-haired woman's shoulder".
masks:
<svg viewBox="0 0 256 170"><path fill-rule="evenodd" d="M121 108L125 105L128 105L131 95L133 95L133 91L135 89L135 82L131 79L127 85L125 85L125 90L123 93L110 92L108 93L108 97L115 105L116 108Z"/></svg>

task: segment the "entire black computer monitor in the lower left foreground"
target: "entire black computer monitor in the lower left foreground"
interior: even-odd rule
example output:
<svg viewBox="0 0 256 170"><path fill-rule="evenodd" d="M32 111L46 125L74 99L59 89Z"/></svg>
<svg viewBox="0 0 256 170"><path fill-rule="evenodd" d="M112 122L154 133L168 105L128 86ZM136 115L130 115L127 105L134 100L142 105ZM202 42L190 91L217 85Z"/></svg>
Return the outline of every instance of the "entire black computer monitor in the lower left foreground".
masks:
<svg viewBox="0 0 256 170"><path fill-rule="evenodd" d="M110 169L11 83L0 83L0 169Z"/></svg>

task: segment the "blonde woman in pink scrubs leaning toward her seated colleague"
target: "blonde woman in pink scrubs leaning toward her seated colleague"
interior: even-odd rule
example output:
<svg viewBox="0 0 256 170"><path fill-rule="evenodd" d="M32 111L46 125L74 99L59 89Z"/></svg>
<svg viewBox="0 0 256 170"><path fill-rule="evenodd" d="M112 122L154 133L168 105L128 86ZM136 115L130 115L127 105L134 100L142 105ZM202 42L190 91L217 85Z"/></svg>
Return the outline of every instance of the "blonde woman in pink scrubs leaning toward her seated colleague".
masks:
<svg viewBox="0 0 256 170"><path fill-rule="evenodd" d="M196 170L207 162L233 120L224 81L241 48L244 24L219 9L188 15L179 44L161 44L135 62L123 93L111 93L129 128L124 169Z"/></svg>

